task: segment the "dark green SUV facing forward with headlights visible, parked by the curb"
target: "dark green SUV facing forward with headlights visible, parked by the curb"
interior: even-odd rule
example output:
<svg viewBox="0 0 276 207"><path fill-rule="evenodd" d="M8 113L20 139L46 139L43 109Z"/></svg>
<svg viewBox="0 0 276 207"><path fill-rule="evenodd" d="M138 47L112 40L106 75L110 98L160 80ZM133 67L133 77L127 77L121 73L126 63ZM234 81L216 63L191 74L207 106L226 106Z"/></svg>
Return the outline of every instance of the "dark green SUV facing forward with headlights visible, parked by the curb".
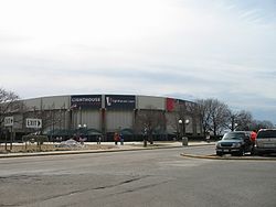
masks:
<svg viewBox="0 0 276 207"><path fill-rule="evenodd" d="M216 143L216 155L223 154L244 155L246 152L253 153L253 143L250 131L232 131L225 133L221 141Z"/></svg>

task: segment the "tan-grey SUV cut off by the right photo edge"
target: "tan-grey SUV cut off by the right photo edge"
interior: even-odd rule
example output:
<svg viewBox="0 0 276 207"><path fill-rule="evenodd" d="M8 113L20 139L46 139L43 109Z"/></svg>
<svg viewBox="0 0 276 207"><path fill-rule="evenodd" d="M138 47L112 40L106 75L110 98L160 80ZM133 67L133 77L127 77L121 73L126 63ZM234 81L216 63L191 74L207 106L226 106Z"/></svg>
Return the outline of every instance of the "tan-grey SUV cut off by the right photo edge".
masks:
<svg viewBox="0 0 276 207"><path fill-rule="evenodd" d="M258 155L276 153L276 129L262 129L258 131L254 152Z"/></svg>

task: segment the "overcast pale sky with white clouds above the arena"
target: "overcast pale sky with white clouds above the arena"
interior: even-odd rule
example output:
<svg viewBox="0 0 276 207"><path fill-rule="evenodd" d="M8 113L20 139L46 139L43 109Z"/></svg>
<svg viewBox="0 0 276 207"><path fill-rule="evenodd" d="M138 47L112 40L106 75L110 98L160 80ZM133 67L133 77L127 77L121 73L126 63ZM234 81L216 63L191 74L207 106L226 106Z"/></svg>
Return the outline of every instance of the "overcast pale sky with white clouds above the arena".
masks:
<svg viewBox="0 0 276 207"><path fill-rule="evenodd" d="M217 98L276 123L276 0L1 0L0 72L22 98Z"/></svg>

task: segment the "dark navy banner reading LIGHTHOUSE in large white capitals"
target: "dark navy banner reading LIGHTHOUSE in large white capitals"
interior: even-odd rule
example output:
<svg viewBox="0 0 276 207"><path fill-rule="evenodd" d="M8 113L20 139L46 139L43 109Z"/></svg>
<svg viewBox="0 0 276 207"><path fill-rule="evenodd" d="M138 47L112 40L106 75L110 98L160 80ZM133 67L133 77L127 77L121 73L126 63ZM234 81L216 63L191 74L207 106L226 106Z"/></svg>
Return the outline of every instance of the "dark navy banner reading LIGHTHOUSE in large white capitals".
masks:
<svg viewBox="0 0 276 207"><path fill-rule="evenodd" d="M89 108L100 109L102 108L102 95L76 95L71 97L71 109Z"/></svg>

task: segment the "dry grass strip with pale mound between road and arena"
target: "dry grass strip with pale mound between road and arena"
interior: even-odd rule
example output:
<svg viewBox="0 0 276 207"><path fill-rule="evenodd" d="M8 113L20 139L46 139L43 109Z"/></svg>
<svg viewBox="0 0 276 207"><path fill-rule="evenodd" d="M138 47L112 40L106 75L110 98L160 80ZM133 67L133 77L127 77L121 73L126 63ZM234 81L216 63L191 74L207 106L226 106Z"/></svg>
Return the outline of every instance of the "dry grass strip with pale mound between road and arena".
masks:
<svg viewBox="0 0 276 207"><path fill-rule="evenodd" d="M42 143L38 145L34 143L10 143L0 144L0 159L4 157L21 157L21 156L45 156L45 155L65 155L65 154L84 154L84 153L103 153L103 152L124 152L137 150L155 150L155 149L169 149L181 148L179 142L156 142L148 144L144 148L142 142L126 142L124 145L115 145L113 142L95 142L79 143L74 140L67 140L62 143ZM10 150L11 149L11 150Z"/></svg>

